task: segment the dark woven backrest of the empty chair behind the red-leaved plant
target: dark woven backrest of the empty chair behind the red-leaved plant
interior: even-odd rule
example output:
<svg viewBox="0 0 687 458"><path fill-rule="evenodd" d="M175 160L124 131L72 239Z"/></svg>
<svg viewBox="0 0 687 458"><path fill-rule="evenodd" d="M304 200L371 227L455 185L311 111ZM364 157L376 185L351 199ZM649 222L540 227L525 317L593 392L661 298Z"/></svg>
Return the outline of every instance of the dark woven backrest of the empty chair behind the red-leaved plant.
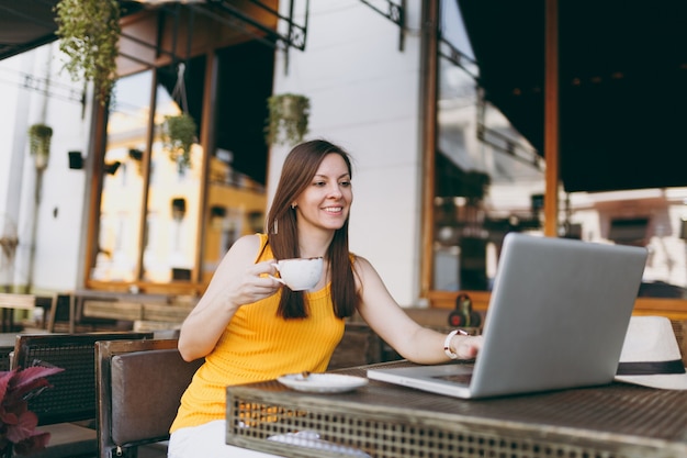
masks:
<svg viewBox="0 0 687 458"><path fill-rule="evenodd" d="M53 388L29 401L40 425L95 418L95 342L153 338L153 333L19 334L11 367L57 366Z"/></svg>

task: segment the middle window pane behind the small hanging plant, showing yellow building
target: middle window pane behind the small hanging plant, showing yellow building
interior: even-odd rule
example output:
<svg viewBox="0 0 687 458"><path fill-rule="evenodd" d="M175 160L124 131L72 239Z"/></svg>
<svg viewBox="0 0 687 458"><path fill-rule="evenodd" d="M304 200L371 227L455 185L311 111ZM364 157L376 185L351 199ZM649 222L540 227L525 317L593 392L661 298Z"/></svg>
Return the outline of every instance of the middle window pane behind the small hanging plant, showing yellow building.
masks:
<svg viewBox="0 0 687 458"><path fill-rule="evenodd" d="M146 281L160 283L193 279L202 205L204 152L198 136L202 122L200 101L204 68L204 58L196 58L184 67L183 72L171 66L158 69L143 258L143 279ZM189 107L191 94L194 104ZM184 111L184 107L189 107L188 110ZM185 152L180 146L183 139L174 135L187 129L184 119L179 118L184 112L195 123L192 144ZM177 129L166 130L164 126L168 121L177 121Z"/></svg>

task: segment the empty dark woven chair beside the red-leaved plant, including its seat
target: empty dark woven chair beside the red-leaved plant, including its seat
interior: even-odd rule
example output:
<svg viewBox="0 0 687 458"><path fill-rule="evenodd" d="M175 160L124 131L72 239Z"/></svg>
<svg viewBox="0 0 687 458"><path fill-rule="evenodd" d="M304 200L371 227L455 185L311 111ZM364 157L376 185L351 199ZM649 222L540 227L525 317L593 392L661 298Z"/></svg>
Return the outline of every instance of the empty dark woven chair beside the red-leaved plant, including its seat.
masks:
<svg viewBox="0 0 687 458"><path fill-rule="evenodd" d="M45 450L32 457L93 457L95 420L95 343L153 338L153 333L19 334L11 368L52 365L65 369L50 376L53 388L30 400L40 429L50 433Z"/></svg>

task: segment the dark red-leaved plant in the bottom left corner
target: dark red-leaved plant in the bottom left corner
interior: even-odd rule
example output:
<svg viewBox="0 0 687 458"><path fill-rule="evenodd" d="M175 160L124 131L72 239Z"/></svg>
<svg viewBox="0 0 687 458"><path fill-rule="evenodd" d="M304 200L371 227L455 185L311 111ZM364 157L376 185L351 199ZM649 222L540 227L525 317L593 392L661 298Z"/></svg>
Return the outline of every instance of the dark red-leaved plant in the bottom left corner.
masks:
<svg viewBox="0 0 687 458"><path fill-rule="evenodd" d="M50 387L45 377L63 370L33 366L0 372L0 457L30 455L46 447L50 433L36 431L38 417L29 410L29 400Z"/></svg>

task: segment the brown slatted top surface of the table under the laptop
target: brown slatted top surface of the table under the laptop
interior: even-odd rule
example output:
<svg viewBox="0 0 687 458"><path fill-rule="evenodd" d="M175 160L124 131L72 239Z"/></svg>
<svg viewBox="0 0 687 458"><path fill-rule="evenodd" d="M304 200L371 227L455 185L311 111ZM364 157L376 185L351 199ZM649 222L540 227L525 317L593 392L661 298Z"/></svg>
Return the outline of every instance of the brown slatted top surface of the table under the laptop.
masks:
<svg viewBox="0 0 687 458"><path fill-rule="evenodd" d="M337 372L365 377L369 367L398 365L408 362L361 366ZM272 412L284 407L291 416L318 417L324 412L344 412L344 416L349 413L350 418L361 422L381 421L385 425L382 428L393 427L395 422L431 425L423 434L480 425L502 433L517 429L520 435L531 432L538 437L558 435L651 447L669 445L687 450L687 391L626 383L461 400L374 380L354 391L326 394L294 391L278 381L268 381L227 387L227 427L233 420L230 404L239 402L268 406ZM322 422L314 424L322 426Z"/></svg>

